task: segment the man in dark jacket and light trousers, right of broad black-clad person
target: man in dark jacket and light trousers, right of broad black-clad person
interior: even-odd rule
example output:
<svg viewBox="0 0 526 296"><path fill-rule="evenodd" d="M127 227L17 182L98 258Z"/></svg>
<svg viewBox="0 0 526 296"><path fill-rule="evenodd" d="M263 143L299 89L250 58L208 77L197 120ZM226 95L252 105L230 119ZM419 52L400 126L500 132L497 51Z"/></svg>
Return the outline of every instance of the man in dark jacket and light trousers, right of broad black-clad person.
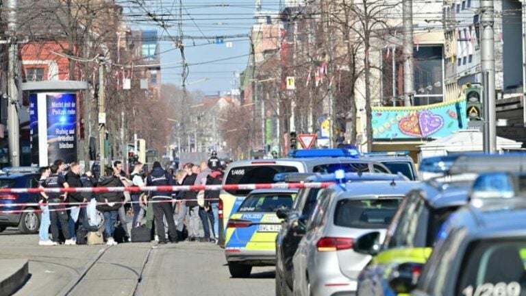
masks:
<svg viewBox="0 0 526 296"><path fill-rule="evenodd" d="M186 173L186 177L184 177L182 184L183 186L193 186L195 184L197 173L195 173L194 167L195 165L192 163L185 164L184 171ZM201 219L199 219L199 204L197 204L197 191L185 191L183 198L185 200L184 203L186 204L186 210L190 213L188 240L194 241L199 235L199 224L196 223L201 222ZM192 214L194 214L193 217ZM182 230L182 226L180 229Z"/></svg>

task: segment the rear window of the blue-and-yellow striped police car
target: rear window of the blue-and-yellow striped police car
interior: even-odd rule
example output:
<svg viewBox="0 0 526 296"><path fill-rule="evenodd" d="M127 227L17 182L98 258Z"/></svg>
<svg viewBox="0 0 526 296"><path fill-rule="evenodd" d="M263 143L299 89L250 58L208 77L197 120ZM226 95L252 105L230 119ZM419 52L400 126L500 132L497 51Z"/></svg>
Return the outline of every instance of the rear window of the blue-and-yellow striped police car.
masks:
<svg viewBox="0 0 526 296"><path fill-rule="evenodd" d="M239 206L238 212L276 212L277 209L292 207L292 194L251 195Z"/></svg>

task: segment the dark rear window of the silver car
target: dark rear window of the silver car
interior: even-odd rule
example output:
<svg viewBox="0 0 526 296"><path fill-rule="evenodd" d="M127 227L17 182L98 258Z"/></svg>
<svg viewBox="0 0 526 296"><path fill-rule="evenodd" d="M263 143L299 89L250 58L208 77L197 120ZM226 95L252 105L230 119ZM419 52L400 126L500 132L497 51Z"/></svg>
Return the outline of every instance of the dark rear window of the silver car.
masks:
<svg viewBox="0 0 526 296"><path fill-rule="evenodd" d="M391 222L401 197L342 199L336 204L334 225L351 228L385 228Z"/></svg>

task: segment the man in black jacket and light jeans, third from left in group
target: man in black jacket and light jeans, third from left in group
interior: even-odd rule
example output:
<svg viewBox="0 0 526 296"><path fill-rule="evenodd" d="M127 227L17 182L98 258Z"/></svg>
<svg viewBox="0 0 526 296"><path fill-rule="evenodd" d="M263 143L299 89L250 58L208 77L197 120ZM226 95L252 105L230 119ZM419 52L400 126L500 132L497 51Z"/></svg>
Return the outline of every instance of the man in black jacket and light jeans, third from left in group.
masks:
<svg viewBox="0 0 526 296"><path fill-rule="evenodd" d="M77 162L71 162L69 165L69 171L66 173L66 182L68 182L70 187L82 187L79 174L79 164ZM79 221L79 216L84 217L84 207L81 207L81 205L78 203L82 203L86 201L86 199L82 197L82 193L68 193L68 201L72 204L69 209L68 229L69 233L71 234L71 238L73 240L77 240L77 221Z"/></svg>

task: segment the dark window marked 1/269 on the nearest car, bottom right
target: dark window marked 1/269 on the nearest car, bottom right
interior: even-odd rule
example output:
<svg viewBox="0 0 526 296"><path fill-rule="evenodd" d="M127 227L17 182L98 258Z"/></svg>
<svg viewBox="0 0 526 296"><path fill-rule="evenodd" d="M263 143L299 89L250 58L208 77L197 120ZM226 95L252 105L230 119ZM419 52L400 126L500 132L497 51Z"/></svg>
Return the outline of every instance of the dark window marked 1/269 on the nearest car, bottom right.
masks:
<svg viewBox="0 0 526 296"><path fill-rule="evenodd" d="M479 240L467 250L457 295L525 295L525 238Z"/></svg>

